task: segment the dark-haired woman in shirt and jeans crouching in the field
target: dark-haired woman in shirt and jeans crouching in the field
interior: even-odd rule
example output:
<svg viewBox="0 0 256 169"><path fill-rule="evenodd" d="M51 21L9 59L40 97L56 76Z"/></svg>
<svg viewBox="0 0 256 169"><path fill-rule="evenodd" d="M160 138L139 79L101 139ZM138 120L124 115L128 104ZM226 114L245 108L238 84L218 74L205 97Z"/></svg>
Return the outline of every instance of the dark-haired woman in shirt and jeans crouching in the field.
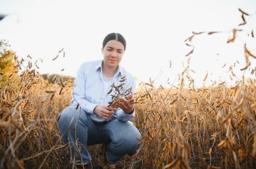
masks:
<svg viewBox="0 0 256 169"><path fill-rule="evenodd" d="M80 66L71 106L59 114L59 129L64 142L71 142L77 166L90 164L92 158L86 150L90 145L106 145L103 156L110 168L115 168L125 154L131 155L139 148L141 135L130 121L135 117L135 79L119 65L125 48L125 38L121 34L108 34L102 43L103 60ZM132 88L132 93L120 99L118 108L108 106L113 99L109 93L112 84L121 84L120 79L124 76L123 89Z"/></svg>

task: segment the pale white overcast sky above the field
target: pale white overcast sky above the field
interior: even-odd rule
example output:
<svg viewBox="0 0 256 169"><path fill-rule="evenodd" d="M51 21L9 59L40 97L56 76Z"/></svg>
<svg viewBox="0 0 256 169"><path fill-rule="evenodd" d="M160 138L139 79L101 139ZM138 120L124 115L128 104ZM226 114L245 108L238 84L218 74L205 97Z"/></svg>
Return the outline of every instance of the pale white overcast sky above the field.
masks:
<svg viewBox="0 0 256 169"><path fill-rule="evenodd" d="M228 68L236 60L240 64L236 63L234 72L241 77L245 42L256 54L256 38L246 34L238 33L234 43L226 43L232 29L243 22L238 8L255 14L256 1L0 0L0 14L7 15L0 21L0 39L7 40L18 56L30 54L33 62L42 58L41 73L75 76L82 62L102 59L102 40L109 33L119 32L127 41L121 65L146 82L160 74L158 84L168 87L168 78L171 84L177 83L183 64L187 65L185 55L191 47L184 41L191 32L227 32L194 37L190 68L195 73L189 74L200 86L206 72L207 80L228 82ZM256 34L256 14L247 18L247 25L240 28L248 32L253 29ZM53 61L62 48L65 58L61 53ZM255 59L250 60L251 68L255 68Z"/></svg>

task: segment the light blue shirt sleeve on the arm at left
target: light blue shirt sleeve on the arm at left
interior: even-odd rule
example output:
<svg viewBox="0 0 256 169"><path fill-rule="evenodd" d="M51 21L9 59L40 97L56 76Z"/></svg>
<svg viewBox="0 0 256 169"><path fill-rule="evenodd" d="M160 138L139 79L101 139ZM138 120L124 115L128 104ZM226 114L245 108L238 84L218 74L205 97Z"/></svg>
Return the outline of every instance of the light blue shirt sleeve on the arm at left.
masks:
<svg viewBox="0 0 256 169"><path fill-rule="evenodd" d="M86 100L86 71L83 66L80 66L77 76L75 77L75 84L71 93L71 105L79 106L86 111L86 113L93 114L94 108L97 106Z"/></svg>

